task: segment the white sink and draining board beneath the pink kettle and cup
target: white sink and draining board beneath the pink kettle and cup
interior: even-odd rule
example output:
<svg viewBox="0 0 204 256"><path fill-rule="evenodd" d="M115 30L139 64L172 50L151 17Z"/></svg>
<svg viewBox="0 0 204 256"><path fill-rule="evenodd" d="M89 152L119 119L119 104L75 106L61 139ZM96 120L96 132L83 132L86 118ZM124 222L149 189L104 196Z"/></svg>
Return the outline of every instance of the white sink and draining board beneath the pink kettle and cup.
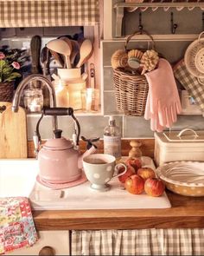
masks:
<svg viewBox="0 0 204 256"><path fill-rule="evenodd" d="M154 167L150 157L143 156L143 166ZM109 182L111 189L96 192L89 181L66 189L50 189L36 181L38 161L35 159L0 160L0 197L25 196L34 210L136 209L169 208L167 195L150 197L130 194L120 186L118 178Z"/></svg>

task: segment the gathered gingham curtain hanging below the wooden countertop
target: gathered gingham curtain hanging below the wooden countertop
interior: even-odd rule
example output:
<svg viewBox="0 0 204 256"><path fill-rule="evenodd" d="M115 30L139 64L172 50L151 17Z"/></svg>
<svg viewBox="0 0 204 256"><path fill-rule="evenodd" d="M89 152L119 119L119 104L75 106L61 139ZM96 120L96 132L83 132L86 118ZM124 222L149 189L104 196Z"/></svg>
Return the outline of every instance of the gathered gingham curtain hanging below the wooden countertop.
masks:
<svg viewBox="0 0 204 256"><path fill-rule="evenodd" d="M204 229L73 231L72 255L204 255Z"/></svg>

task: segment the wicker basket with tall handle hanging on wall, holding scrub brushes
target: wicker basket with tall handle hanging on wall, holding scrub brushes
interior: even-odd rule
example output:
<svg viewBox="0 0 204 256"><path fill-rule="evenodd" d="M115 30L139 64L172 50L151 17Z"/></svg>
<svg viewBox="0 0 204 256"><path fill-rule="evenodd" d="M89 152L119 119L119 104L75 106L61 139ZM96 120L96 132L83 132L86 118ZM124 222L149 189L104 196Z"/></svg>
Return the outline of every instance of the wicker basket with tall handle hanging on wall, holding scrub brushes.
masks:
<svg viewBox="0 0 204 256"><path fill-rule="evenodd" d="M124 44L124 49L128 51L127 44L132 36L139 34L133 33L128 36ZM155 42L147 32L152 42L152 49L155 49ZM116 96L118 111L124 115L144 115L149 85L145 75L136 75L129 69L117 68L113 69L113 85Z"/></svg>

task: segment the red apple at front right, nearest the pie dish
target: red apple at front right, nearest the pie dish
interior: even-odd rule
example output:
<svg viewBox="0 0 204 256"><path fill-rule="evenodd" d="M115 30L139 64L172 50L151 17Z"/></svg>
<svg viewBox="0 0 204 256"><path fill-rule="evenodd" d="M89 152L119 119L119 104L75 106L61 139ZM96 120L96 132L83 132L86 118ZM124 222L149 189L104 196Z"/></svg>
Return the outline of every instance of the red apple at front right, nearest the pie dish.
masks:
<svg viewBox="0 0 204 256"><path fill-rule="evenodd" d="M160 196L165 190L165 185L162 180L157 178L149 178L144 183L144 191L150 196Z"/></svg>

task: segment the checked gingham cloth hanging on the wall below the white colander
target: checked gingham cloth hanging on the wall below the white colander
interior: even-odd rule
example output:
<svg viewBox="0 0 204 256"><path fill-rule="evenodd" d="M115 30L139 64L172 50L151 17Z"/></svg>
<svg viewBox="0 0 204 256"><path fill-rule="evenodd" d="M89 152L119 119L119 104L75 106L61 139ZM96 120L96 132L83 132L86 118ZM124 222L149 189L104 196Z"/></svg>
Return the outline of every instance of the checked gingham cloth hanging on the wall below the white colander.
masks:
<svg viewBox="0 0 204 256"><path fill-rule="evenodd" d="M182 86L188 91L188 94L194 98L194 102L201 108L201 112L204 114L204 85L188 72L183 59L175 64L173 70L175 78L181 82Z"/></svg>

